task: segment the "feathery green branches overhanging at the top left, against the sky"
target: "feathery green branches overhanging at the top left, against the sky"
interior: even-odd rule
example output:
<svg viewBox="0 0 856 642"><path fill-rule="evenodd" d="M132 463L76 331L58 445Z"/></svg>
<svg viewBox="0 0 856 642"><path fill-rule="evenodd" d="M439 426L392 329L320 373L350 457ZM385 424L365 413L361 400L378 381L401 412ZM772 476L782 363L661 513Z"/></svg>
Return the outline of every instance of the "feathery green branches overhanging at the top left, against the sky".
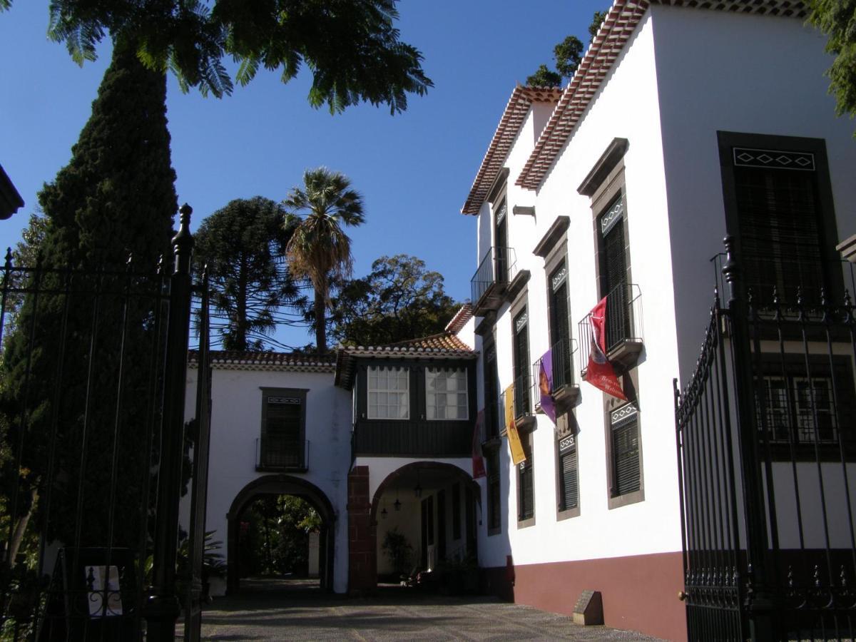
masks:
<svg viewBox="0 0 856 642"><path fill-rule="evenodd" d="M399 39L395 0L51 0L50 10L51 39L78 64L95 59L106 34L131 37L147 68L218 98L233 88L224 57L238 63L241 85L261 67L288 82L306 65L309 102L330 112L363 101L401 112L408 93L432 86L422 54Z"/></svg>

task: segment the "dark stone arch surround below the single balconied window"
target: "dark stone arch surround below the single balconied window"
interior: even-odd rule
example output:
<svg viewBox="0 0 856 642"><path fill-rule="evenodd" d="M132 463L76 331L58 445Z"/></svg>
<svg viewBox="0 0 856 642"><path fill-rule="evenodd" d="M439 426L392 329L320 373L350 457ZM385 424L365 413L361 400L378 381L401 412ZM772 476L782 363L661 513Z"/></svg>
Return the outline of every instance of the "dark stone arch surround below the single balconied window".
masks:
<svg viewBox="0 0 856 642"><path fill-rule="evenodd" d="M312 504L321 517L321 532L319 538L318 574L322 589L333 587L333 556L334 556L334 521L336 514L330 499L315 484L306 479L290 475L265 475L244 486L235 496L229 507L226 519L228 526L228 541L226 545L227 579L226 593L234 595L240 590L241 579L238 572L238 542L240 538L241 514L253 500L263 495L294 495L302 497Z"/></svg>

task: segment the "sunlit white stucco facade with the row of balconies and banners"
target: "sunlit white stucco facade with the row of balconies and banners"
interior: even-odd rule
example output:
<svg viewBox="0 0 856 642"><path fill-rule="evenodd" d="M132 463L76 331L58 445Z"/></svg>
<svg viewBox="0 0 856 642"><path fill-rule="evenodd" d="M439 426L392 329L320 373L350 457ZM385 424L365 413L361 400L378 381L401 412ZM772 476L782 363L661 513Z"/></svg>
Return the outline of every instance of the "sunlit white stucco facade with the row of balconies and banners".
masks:
<svg viewBox="0 0 856 642"><path fill-rule="evenodd" d="M577 323L597 303L597 288L590 199L580 196L576 187L615 137L630 141L624 165L630 264L633 282L641 289L644 313L645 352L637 372L645 501L609 509L603 393L587 383L580 383L581 402L574 411L580 425L577 440L580 516L556 520L556 437L550 420L538 415L538 428L533 433L535 525L517 528L517 474L508 457L508 445L503 442L501 489L506 503L502 511L502 532L487 537L484 528L481 531L479 557L484 566L504 565L509 553L513 554L515 564L531 564L633 556L681 548L671 390L671 378L677 372L677 350L659 122L649 15L627 43L607 83L597 93L543 186L535 193L537 216L511 216L508 223L509 244L517 250L520 267L532 273L527 284L527 306L530 356L534 361L549 348L550 339L544 261L534 256L532 249L557 216L570 217L570 324L572 335L579 342ZM518 153L515 149L508 158L509 211L520 194L519 188L512 186L527 156L528 151ZM525 204L530 204L532 193L526 193L525 198ZM486 219L487 216L483 208L482 217ZM502 389L512 381L511 330L506 305L500 309L496 321ZM579 376L578 363L574 364L574 369Z"/></svg>

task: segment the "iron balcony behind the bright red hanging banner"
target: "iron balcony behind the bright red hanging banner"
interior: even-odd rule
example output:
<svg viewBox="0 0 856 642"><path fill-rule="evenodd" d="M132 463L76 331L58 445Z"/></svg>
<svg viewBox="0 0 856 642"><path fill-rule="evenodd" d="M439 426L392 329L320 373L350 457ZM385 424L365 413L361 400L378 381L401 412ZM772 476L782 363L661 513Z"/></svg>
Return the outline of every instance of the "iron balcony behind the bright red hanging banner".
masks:
<svg viewBox="0 0 856 642"><path fill-rule="evenodd" d="M586 376L591 353L591 312L580 323L580 373ZM642 352L642 292L635 283L621 282L606 295L606 356L623 370L633 367Z"/></svg>

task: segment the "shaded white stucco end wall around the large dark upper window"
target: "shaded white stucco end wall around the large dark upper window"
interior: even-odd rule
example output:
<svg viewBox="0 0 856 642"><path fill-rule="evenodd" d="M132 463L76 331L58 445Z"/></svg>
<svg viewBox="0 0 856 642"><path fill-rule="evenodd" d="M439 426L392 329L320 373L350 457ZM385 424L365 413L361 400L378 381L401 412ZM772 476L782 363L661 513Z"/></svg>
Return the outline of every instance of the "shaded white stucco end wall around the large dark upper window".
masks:
<svg viewBox="0 0 856 642"><path fill-rule="evenodd" d="M725 235L716 131L825 140L839 240L856 232L856 144L827 92L826 39L799 19L662 6L651 15L683 384L713 300L709 259Z"/></svg>

